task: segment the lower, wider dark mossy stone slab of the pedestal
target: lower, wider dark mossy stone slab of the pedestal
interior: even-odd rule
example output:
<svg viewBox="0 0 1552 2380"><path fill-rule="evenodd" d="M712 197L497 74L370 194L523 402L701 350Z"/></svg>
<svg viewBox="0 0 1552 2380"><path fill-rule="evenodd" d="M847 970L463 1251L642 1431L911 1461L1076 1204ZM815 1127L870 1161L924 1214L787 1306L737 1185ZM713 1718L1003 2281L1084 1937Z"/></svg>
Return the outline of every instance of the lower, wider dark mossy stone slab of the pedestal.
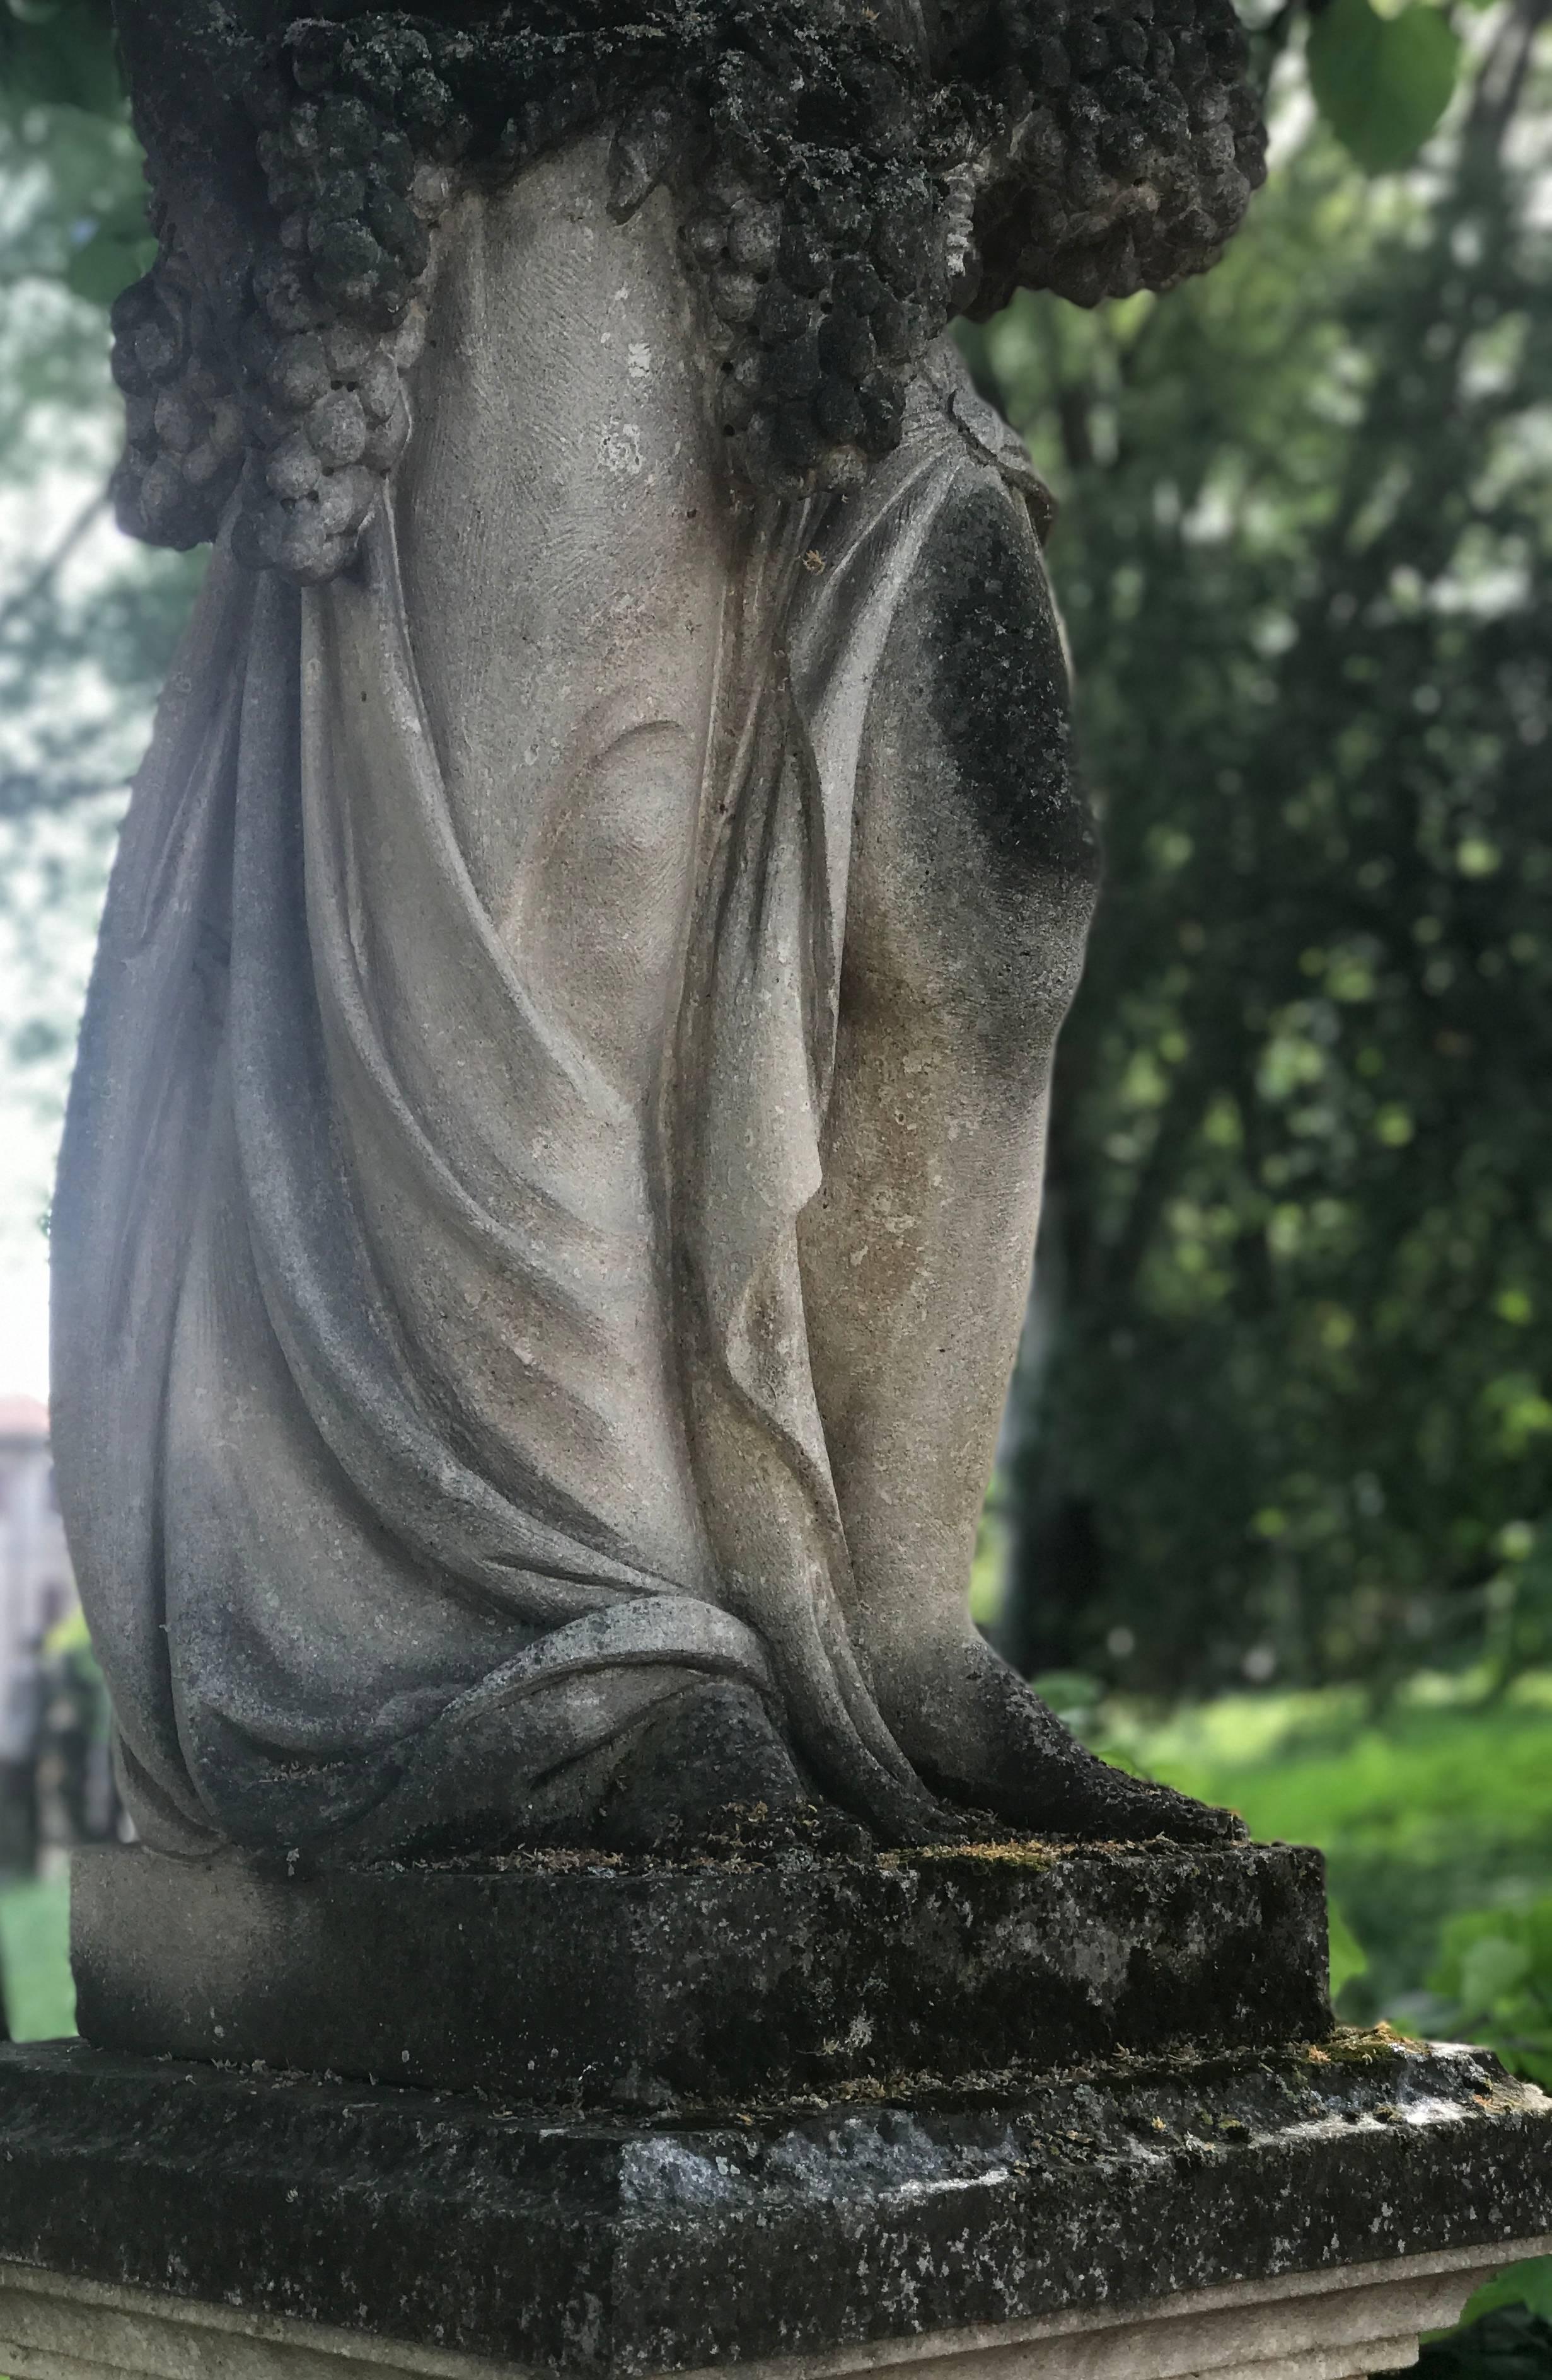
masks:
<svg viewBox="0 0 1552 2380"><path fill-rule="evenodd" d="M0 2152L0 2256L621 2375L1552 2225L1547 2097L1373 2035L695 2123L12 2047Z"/></svg>

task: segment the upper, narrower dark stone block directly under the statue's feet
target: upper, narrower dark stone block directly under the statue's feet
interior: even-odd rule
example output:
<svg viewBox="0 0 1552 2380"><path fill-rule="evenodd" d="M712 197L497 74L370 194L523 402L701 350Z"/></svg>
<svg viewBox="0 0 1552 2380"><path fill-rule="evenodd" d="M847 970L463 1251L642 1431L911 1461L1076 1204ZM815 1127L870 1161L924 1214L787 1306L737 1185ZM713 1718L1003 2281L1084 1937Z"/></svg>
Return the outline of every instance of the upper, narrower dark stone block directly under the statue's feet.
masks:
<svg viewBox="0 0 1552 2380"><path fill-rule="evenodd" d="M102 2049L619 2106L1331 2025L1323 1866L1288 1847L312 1878L83 1852L74 1966Z"/></svg>

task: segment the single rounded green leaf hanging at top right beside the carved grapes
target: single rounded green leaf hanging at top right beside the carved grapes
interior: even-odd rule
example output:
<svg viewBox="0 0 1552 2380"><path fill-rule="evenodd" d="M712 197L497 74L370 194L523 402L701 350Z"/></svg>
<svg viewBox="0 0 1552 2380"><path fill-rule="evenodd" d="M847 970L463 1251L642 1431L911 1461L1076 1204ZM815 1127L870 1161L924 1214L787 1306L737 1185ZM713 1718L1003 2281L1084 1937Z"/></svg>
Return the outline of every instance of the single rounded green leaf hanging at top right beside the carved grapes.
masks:
<svg viewBox="0 0 1552 2380"><path fill-rule="evenodd" d="M1369 174L1409 164L1454 95L1462 40L1412 0L1378 17L1369 0L1331 0L1309 29L1309 83L1333 133Z"/></svg>

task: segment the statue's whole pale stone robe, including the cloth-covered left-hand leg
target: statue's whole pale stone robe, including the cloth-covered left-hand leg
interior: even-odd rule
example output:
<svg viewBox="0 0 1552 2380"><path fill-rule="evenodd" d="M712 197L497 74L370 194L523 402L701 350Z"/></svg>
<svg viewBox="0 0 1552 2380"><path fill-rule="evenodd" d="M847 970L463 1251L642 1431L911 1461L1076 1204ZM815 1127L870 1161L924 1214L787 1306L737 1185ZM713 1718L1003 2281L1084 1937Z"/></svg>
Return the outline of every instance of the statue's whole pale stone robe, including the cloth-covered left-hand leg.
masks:
<svg viewBox="0 0 1552 2380"><path fill-rule="evenodd" d="M940 352L862 495L738 502L671 205L612 224L605 157L459 202L393 505L307 593L217 552L124 831L55 1426L162 1849L543 1833L707 1676L931 1825L797 1228L874 674L1024 466Z"/></svg>

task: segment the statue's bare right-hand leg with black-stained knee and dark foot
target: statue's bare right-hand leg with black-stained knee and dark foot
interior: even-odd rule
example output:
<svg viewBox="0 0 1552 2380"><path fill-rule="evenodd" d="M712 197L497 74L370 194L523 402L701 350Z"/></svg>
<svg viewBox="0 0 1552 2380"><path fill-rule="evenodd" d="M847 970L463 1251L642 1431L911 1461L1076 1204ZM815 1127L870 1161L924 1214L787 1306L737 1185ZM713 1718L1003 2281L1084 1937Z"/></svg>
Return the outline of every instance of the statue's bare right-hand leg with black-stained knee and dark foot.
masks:
<svg viewBox="0 0 1552 2380"><path fill-rule="evenodd" d="M983 1645L964 1592L1095 881L1040 550L1024 502L971 471L874 681L824 1190L800 1228L847 1623L890 1730L957 1799L1212 1837L1226 1814L1085 1754Z"/></svg>

